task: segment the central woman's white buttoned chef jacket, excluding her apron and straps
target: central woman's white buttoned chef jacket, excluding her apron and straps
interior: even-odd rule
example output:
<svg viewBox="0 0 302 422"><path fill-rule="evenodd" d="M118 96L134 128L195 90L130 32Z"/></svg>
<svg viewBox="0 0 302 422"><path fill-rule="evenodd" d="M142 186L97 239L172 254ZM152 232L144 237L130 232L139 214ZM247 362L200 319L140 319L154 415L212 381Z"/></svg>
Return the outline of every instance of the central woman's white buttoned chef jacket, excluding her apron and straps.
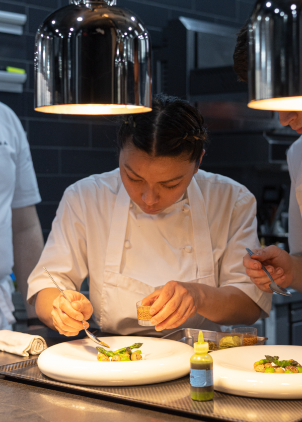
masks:
<svg viewBox="0 0 302 422"><path fill-rule="evenodd" d="M194 177L205 202L214 258L215 286L237 287L259 305L261 316L267 317L271 295L257 289L246 275L242 263L245 248L259 246L254 196L243 185L227 177L202 170L198 170ZM107 243L120 186L120 172L115 169L80 180L65 190L44 251L28 280L29 303L33 303L37 292L53 287L43 266L63 290L80 291L83 279L89 276L90 300L96 322L100 324L99 304L102 299ZM186 197L182 200L183 206L186 200ZM172 214L177 206L177 203L172 205ZM123 274L129 268L127 262L133 266L135 260L136 275L148 277L152 274L157 286L171 280L171 274L178 281L182 281L182 276L190 279L191 274L186 274L188 271L196 275L196 257L190 253L190 224L180 227L179 221L173 220L170 214L169 209L166 209L164 213L150 216L141 213L137 205L133 204L127 223L121 265ZM156 230L149 232L151 220L156 224ZM162 224L163 220L167 221L167 225ZM140 224L144 225L142 233L138 233L137 229ZM187 232L186 235L184 232ZM179 233L182 236L178 236ZM148 237L154 237L156 241L149 243ZM167 245L175 253L166 254ZM161 265L163 253L166 254L164 259L169 261L170 271ZM175 272L174 266L178 268Z"/></svg>

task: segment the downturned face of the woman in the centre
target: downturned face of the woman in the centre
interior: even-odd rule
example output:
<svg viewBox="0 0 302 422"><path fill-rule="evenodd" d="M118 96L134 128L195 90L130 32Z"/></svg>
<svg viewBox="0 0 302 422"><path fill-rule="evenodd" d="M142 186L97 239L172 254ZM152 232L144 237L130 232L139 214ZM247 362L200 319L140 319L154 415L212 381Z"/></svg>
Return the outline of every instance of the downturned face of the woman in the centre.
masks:
<svg viewBox="0 0 302 422"><path fill-rule="evenodd" d="M191 163L187 155L150 157L130 146L121 150L119 167L132 201L146 214L159 214L182 196L199 164Z"/></svg>

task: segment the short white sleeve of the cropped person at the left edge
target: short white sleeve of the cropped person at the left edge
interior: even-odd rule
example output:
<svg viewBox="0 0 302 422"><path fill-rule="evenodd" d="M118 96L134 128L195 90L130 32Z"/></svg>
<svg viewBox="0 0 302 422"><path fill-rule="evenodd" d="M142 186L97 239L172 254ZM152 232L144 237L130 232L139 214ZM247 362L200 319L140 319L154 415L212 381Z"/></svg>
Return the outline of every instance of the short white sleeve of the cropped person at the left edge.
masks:
<svg viewBox="0 0 302 422"><path fill-rule="evenodd" d="M12 110L11 110L12 111ZM16 142L16 184L12 208L34 205L41 201L30 148L22 123L12 111Z"/></svg>

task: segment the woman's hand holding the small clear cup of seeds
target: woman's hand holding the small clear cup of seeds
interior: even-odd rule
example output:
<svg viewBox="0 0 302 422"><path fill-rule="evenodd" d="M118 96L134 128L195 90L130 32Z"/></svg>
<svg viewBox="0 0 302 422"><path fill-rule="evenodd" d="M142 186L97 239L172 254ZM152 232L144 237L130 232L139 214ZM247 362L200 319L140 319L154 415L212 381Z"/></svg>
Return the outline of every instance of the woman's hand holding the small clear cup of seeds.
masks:
<svg viewBox="0 0 302 422"><path fill-rule="evenodd" d="M150 313L155 315L151 322L157 331L176 328L198 309L199 295L195 283L171 281L143 299L142 305L152 305ZM163 306L165 306L163 308Z"/></svg>

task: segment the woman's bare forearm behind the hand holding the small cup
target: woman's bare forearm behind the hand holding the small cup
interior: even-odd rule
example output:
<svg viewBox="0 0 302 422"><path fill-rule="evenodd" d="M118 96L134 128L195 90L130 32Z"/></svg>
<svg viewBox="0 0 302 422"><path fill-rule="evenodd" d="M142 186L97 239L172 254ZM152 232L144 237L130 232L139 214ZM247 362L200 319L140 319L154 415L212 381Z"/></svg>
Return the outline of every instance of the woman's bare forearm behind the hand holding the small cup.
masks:
<svg viewBox="0 0 302 422"><path fill-rule="evenodd" d="M260 317L259 306L234 286L196 285L199 294L197 312L221 325L251 325Z"/></svg>

